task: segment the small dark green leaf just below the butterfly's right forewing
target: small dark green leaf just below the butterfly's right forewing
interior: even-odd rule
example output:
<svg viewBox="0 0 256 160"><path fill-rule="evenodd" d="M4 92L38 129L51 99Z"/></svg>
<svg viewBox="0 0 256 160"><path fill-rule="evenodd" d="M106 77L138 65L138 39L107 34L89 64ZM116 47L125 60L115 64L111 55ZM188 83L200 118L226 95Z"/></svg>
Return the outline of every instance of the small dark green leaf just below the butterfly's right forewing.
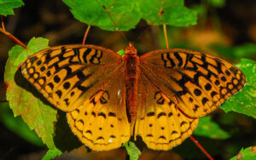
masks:
<svg viewBox="0 0 256 160"><path fill-rule="evenodd" d="M218 140L224 140L230 137L230 134L220 129L217 123L212 122L210 116L200 118L194 134Z"/></svg>

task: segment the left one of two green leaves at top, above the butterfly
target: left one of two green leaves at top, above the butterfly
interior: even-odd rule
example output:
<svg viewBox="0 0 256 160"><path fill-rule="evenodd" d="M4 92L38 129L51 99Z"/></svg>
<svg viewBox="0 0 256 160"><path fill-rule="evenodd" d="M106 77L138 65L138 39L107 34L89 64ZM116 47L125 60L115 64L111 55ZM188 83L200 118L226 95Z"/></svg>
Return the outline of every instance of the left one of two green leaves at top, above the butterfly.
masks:
<svg viewBox="0 0 256 160"><path fill-rule="evenodd" d="M116 31L113 21L102 8L108 9L109 14L119 27L119 31L135 28L141 16L135 9L137 0L62 0L70 8L73 16L87 25L98 26L102 30Z"/></svg>

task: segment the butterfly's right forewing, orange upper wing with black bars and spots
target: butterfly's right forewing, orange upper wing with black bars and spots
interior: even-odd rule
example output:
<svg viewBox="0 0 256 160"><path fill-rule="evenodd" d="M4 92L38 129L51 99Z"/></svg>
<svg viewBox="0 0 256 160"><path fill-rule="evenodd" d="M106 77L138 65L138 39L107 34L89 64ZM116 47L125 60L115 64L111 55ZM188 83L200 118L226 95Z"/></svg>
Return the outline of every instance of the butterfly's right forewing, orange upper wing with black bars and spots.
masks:
<svg viewBox="0 0 256 160"><path fill-rule="evenodd" d="M244 74L214 55L163 49L140 57L140 70L188 117L207 115L246 83Z"/></svg>

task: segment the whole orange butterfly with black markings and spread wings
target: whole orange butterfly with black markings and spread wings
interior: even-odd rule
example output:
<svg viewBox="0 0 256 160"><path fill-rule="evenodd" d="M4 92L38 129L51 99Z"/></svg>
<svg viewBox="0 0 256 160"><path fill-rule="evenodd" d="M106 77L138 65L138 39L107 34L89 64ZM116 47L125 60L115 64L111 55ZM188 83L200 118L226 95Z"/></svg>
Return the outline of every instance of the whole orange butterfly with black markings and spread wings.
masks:
<svg viewBox="0 0 256 160"><path fill-rule="evenodd" d="M236 66L214 55L162 49L138 57L131 43L124 57L94 45L44 49L21 71L67 112L73 133L92 150L118 148L131 135L170 150L246 83Z"/></svg>

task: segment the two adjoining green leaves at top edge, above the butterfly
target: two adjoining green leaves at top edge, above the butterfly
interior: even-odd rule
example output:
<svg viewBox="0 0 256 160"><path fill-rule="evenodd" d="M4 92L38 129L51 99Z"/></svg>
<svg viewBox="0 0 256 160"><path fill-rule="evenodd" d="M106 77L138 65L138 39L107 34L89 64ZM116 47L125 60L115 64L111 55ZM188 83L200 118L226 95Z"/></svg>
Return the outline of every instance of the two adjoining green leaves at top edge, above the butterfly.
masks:
<svg viewBox="0 0 256 160"><path fill-rule="evenodd" d="M184 7L183 0L63 0L70 8L74 17L90 26L98 26L103 30L116 31L112 19L119 31L135 28L139 20L152 23L160 16L154 25L189 26L195 25L197 16L194 10ZM102 8L105 5L109 14Z"/></svg>

